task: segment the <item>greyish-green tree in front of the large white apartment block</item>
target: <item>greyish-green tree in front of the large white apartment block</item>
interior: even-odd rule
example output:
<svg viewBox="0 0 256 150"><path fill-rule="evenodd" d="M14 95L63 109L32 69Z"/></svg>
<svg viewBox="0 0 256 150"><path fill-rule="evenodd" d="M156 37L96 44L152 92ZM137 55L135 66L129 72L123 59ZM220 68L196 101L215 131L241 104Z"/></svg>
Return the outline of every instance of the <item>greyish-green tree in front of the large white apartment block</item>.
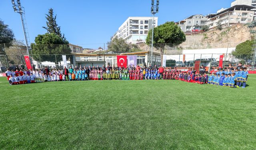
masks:
<svg viewBox="0 0 256 150"><path fill-rule="evenodd" d="M110 42L107 43L107 45L108 50L117 52L128 52L131 49L123 38L114 37Z"/></svg>

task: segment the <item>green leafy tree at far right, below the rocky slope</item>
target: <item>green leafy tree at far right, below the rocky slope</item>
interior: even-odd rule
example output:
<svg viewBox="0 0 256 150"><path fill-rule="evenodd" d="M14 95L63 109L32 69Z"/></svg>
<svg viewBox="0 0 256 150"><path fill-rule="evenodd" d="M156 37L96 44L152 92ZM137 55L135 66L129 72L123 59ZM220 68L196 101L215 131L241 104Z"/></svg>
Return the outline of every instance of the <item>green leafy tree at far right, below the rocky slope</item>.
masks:
<svg viewBox="0 0 256 150"><path fill-rule="evenodd" d="M243 43L240 43L236 46L236 50L232 52L232 55L235 56L238 60L246 61L249 60L252 56L252 45L254 44L254 40L247 40Z"/></svg>

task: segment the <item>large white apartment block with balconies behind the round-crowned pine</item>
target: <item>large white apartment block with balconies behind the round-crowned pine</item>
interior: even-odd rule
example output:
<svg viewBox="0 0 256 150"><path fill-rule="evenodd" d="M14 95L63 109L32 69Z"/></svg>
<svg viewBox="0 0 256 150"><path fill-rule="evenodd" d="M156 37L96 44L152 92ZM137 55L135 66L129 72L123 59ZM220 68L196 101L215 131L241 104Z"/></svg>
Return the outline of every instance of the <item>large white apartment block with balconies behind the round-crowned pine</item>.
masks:
<svg viewBox="0 0 256 150"><path fill-rule="evenodd" d="M113 37L123 38L129 44L145 43L148 30L152 28L152 17L129 17ZM158 26L158 17L154 17L154 27Z"/></svg>

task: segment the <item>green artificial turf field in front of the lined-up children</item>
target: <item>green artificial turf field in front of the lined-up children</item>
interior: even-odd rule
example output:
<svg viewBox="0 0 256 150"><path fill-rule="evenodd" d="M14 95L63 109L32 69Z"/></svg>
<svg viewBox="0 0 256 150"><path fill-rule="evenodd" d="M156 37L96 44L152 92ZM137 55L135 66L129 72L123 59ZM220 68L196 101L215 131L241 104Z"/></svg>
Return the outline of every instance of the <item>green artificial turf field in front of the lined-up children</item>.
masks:
<svg viewBox="0 0 256 150"><path fill-rule="evenodd" d="M256 149L256 75L245 89L2 77L0 149Z"/></svg>

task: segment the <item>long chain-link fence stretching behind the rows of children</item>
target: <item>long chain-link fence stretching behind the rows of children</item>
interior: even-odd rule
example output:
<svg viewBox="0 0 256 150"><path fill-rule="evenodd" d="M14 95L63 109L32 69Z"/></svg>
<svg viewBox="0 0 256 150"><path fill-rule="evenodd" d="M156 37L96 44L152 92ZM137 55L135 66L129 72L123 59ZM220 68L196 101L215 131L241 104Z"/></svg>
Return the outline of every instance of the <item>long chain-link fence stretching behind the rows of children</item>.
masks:
<svg viewBox="0 0 256 150"><path fill-rule="evenodd" d="M237 43L239 44L239 43ZM161 65L166 67L193 68L195 61L200 60L209 70L218 68L220 55L223 55L223 66L236 66L242 62L248 70L255 70L255 50L249 54L233 53L235 43L226 44L154 44L153 51L148 44L129 44L124 51L112 50L79 50L78 46L70 45L31 45L28 48L30 62L33 68L60 68L64 67L62 55L66 56L68 66L117 66L116 55L137 55L137 64L140 66ZM226 46L225 46L226 45ZM81 49L81 47L80 47ZM7 68L26 68L24 56L28 55L26 46L0 44L0 72ZM162 54L162 55L161 55Z"/></svg>

